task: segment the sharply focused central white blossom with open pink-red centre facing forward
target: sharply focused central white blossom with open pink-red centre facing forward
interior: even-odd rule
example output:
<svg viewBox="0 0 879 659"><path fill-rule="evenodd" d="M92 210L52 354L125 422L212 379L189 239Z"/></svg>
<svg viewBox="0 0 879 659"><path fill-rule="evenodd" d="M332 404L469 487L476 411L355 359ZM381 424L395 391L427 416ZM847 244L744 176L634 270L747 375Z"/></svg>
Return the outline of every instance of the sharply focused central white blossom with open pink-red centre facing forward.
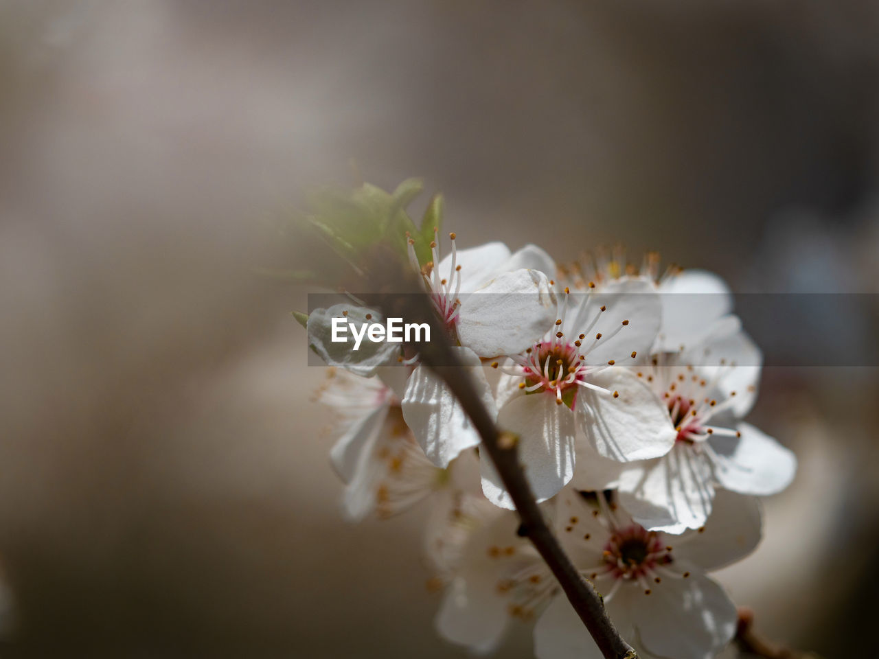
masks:
<svg viewBox="0 0 879 659"><path fill-rule="evenodd" d="M638 278L614 280L586 293L560 296L556 323L527 351L512 356L498 384L498 425L519 436L519 452L538 501L570 482L578 433L612 460L667 453L675 433L663 424L662 402L622 364L653 344L660 322L657 293ZM512 508L492 465L483 463L483 491Z"/></svg>

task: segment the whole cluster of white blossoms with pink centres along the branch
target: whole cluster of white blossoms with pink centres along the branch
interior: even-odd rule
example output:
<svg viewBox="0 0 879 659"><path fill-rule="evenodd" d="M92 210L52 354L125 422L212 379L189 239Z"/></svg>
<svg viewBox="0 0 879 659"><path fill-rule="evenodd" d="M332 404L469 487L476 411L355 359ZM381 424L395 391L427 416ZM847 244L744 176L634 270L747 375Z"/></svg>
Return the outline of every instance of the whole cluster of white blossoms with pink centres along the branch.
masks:
<svg viewBox="0 0 879 659"><path fill-rule="evenodd" d="M761 355L716 276L656 255L556 265L534 245L488 243L410 264L571 561L602 593L643 656L703 659L732 638L736 608L708 571L761 535L759 502L784 489L795 457L743 421ZM421 250L425 253L425 250ZM449 641L487 651L533 619L540 659L599 657L534 547L480 438L446 381L399 344L351 351L331 320L380 318L340 303L309 316L330 366L331 460L350 518L430 502L425 553L445 590Z"/></svg>

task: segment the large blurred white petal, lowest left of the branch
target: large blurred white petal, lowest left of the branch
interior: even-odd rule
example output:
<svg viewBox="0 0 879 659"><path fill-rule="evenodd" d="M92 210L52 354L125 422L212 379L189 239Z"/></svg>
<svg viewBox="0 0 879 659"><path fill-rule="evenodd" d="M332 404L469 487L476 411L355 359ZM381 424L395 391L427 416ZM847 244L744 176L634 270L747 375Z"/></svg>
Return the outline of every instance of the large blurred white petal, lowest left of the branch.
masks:
<svg viewBox="0 0 879 659"><path fill-rule="evenodd" d="M492 556L490 547L515 547L519 519L504 512L473 532L461 553L459 568L446 590L436 618L439 635L447 641L488 652L504 634L510 614L509 599L498 591L498 581L510 568L504 557ZM534 561L540 561L534 557Z"/></svg>

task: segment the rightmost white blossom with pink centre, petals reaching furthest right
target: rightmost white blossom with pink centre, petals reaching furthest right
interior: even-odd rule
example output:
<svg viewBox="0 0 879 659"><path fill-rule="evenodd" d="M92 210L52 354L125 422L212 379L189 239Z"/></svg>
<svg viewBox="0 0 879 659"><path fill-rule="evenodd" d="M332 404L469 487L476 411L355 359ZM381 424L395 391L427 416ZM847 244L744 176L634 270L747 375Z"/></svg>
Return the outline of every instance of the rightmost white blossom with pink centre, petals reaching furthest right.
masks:
<svg viewBox="0 0 879 659"><path fill-rule="evenodd" d="M649 529L699 528L717 488L770 495L794 477L794 454L741 420L756 395L761 357L744 331L729 329L692 349L654 355L637 370L676 433L672 451L623 466L617 481L621 504Z"/></svg>

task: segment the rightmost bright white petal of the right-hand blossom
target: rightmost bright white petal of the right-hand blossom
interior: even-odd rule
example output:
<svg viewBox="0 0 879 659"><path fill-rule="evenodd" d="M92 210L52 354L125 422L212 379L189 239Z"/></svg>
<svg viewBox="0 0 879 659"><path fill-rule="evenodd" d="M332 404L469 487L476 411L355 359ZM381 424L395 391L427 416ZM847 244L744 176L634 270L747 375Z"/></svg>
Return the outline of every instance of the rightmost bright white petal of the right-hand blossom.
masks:
<svg viewBox="0 0 879 659"><path fill-rule="evenodd" d="M781 492L794 480L796 456L751 424L739 424L740 438L712 437L715 477L724 488L750 495Z"/></svg>

